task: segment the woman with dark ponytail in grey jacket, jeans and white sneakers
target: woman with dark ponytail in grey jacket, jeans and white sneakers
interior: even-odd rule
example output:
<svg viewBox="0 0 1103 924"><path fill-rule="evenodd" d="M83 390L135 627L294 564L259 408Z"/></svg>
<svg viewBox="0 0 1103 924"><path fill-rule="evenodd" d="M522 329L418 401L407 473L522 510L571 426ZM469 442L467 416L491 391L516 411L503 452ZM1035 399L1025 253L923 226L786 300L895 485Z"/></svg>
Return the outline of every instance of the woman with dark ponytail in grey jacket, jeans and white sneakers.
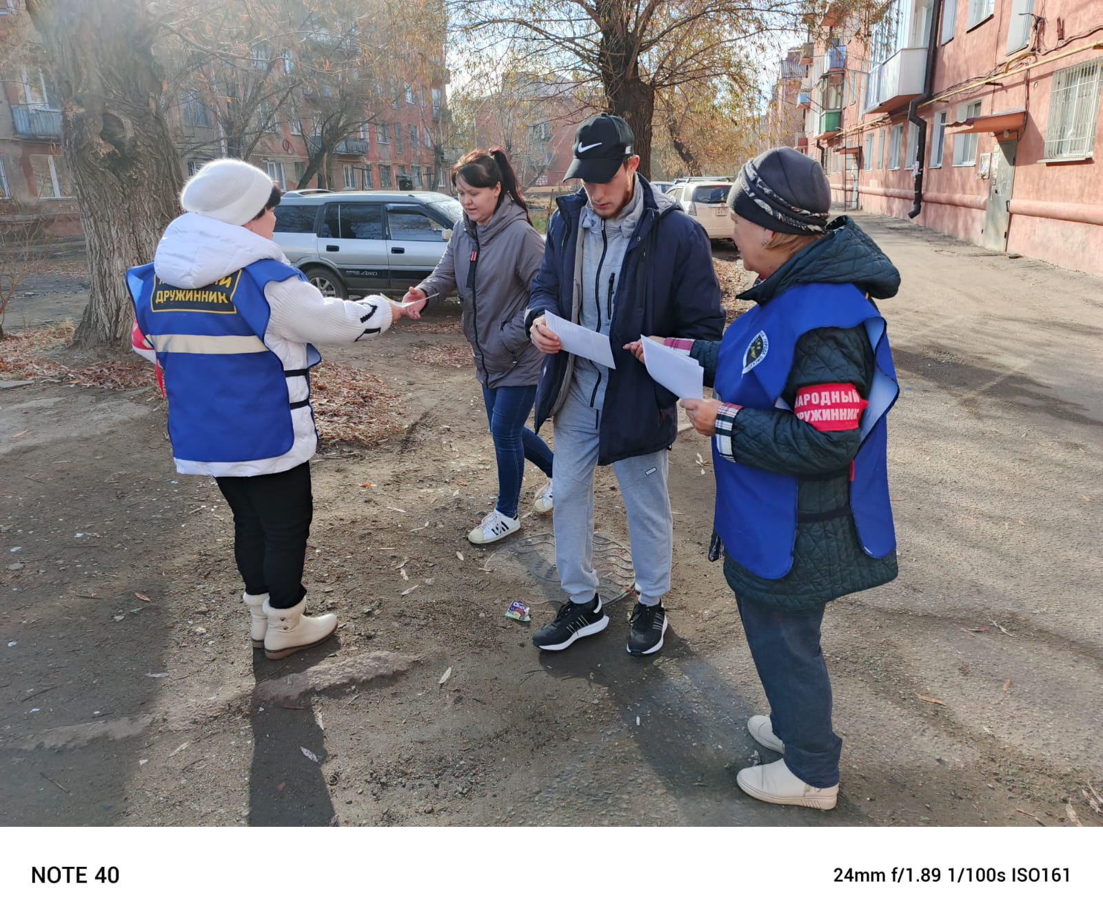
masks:
<svg viewBox="0 0 1103 924"><path fill-rule="evenodd" d="M552 509L552 450L525 427L536 398L543 356L525 333L528 284L544 259L544 238L505 151L470 151L452 168L464 217L432 275L404 299L410 318L459 293L463 333L471 343L497 460L497 502L468 539L496 542L521 528L517 505L525 460L548 476L537 513Z"/></svg>

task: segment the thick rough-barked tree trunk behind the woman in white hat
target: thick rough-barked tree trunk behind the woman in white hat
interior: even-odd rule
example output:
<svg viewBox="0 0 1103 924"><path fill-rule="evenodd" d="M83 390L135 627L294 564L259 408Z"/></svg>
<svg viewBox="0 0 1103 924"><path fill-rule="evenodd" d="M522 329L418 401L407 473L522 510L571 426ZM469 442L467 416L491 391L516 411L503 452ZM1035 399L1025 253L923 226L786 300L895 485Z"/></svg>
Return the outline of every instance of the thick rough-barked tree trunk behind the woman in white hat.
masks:
<svg viewBox="0 0 1103 924"><path fill-rule="evenodd" d="M153 259L180 214L180 162L164 119L161 68L141 0L28 0L62 98L62 151L88 243L82 345L129 340L129 267Z"/></svg>

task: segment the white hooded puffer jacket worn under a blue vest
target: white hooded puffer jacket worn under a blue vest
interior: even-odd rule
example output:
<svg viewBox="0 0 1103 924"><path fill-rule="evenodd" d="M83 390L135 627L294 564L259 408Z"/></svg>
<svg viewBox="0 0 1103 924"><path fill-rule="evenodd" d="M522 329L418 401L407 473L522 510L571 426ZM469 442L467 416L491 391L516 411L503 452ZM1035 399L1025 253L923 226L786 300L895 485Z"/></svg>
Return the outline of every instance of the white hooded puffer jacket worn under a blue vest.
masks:
<svg viewBox="0 0 1103 924"><path fill-rule="evenodd" d="M279 246L238 225L186 213L176 218L157 246L153 270L169 286L202 289L257 260L288 262ZM265 298L271 311L264 342L275 353L285 369L301 369L307 365L307 344L364 343L386 333L390 326L390 305L382 296L370 296L364 302L378 309L371 321L364 316L364 302L328 299L309 282L285 279L265 286ZM367 333L367 329L378 329ZM135 350L146 358L156 359L140 332L133 337ZM287 379L288 401L308 397L307 379ZM309 406L291 410L295 443L282 455L248 462L195 462L174 459L176 471L184 475L250 476L286 472L310 459L318 449L318 431Z"/></svg>

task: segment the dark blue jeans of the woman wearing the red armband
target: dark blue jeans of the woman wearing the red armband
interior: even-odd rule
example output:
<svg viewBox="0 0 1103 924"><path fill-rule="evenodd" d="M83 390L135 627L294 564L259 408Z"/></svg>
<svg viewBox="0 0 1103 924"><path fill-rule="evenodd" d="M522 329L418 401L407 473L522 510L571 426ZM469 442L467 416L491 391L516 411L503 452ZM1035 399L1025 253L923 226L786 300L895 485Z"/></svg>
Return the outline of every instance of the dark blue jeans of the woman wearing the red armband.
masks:
<svg viewBox="0 0 1103 924"><path fill-rule="evenodd" d="M824 608L774 610L739 594L736 603L785 765L810 786L834 786L843 739L831 727L831 679L820 648Z"/></svg>

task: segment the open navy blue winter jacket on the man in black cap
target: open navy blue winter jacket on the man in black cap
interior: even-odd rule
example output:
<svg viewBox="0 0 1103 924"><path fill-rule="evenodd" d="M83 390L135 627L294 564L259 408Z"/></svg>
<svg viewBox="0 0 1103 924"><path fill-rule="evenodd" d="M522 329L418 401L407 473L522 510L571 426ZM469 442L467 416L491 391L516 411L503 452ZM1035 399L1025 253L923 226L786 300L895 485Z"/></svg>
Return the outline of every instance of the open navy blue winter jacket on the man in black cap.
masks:
<svg viewBox="0 0 1103 924"><path fill-rule="evenodd" d="M677 434L677 398L658 385L627 350L642 335L719 340L724 332L720 286L705 229L675 203L656 195L642 176L643 217L629 241L621 283L613 298L609 331L617 368L610 372L601 413L598 464L666 449ZM578 322L574 304L575 256L586 191L556 200L548 223L544 264L533 280L527 324L546 311ZM588 280L582 280L587 284ZM592 282L592 280L590 280ZM536 391L536 428L558 409L568 372L568 353L544 357Z"/></svg>

